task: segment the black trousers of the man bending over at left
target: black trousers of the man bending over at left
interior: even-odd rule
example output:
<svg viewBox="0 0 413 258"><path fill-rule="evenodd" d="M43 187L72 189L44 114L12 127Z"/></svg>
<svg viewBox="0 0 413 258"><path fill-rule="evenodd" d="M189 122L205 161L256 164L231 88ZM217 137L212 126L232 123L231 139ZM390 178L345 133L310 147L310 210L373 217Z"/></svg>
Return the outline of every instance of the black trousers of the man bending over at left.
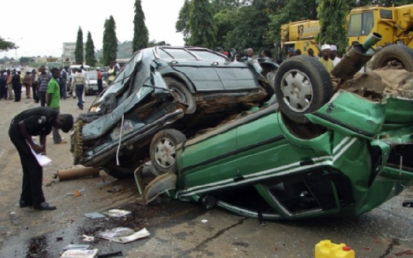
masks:
<svg viewBox="0 0 413 258"><path fill-rule="evenodd" d="M43 168L39 165L36 158L34 158L18 125L10 125L9 136L19 152L21 167L23 168L23 183L21 185L20 200L27 204L38 206L41 202L45 201L45 196L41 189Z"/></svg>

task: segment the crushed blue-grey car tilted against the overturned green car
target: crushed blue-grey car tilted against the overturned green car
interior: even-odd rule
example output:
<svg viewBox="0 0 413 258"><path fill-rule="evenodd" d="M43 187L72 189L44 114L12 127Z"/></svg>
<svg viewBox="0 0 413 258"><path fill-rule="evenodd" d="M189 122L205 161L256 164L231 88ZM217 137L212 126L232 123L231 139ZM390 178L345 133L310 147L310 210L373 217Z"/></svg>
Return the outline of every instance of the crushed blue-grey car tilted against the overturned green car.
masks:
<svg viewBox="0 0 413 258"><path fill-rule="evenodd" d="M265 75L257 61L230 61L202 47L139 50L78 117L74 164L130 178L152 157L160 171L169 171L176 144L266 103L274 90Z"/></svg>

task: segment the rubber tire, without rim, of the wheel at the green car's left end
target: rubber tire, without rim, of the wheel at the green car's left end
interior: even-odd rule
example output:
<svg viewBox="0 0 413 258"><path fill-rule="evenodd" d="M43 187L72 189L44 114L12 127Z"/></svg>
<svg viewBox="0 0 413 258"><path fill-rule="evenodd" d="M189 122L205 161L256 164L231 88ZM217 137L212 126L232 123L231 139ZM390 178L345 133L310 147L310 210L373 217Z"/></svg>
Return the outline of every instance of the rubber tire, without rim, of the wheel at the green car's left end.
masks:
<svg viewBox="0 0 413 258"><path fill-rule="evenodd" d="M169 140L171 140L173 144L176 146L182 142L185 142L187 140L187 136L185 136L183 133L176 129L165 129L162 131L158 131L158 133L156 133L151 140L151 146L149 147L149 155L151 156L152 166L155 169L157 169L160 173L167 173L169 171L176 173L177 164L173 164L169 169L165 169L162 166L159 166L154 158L156 143L160 138L169 138Z"/></svg>

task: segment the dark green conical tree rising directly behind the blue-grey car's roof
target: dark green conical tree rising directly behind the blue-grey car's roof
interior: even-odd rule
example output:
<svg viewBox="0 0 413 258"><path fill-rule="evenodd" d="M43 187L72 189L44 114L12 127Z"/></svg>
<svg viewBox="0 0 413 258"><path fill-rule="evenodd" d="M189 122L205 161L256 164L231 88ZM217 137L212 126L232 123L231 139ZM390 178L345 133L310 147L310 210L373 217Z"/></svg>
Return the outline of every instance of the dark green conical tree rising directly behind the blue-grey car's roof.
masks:
<svg viewBox="0 0 413 258"><path fill-rule="evenodd" d="M189 45L199 47L215 47L216 28L213 25L213 14L209 0L191 1L189 12Z"/></svg>

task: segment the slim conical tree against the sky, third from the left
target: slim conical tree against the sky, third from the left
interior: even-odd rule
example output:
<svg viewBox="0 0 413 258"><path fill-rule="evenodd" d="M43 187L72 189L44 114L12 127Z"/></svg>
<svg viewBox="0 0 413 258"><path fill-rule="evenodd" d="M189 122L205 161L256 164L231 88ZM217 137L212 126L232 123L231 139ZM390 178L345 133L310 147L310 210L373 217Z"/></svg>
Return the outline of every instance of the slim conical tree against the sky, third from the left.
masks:
<svg viewBox="0 0 413 258"><path fill-rule="evenodd" d="M111 15L105 20L105 30L103 32L103 64L109 65L116 61L116 52L118 51L118 39L116 38L116 23Z"/></svg>

